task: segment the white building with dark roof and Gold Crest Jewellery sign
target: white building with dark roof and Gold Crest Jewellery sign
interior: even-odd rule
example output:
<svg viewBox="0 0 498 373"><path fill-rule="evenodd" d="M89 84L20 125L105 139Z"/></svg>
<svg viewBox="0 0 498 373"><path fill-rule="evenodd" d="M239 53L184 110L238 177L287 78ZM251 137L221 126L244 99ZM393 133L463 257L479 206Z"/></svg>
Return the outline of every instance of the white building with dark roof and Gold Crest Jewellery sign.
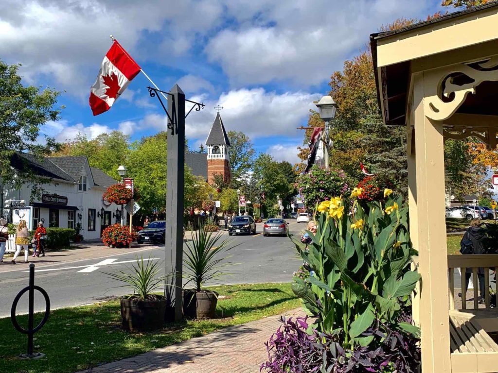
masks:
<svg viewBox="0 0 498 373"><path fill-rule="evenodd" d="M121 221L121 206L103 199L107 187L117 181L90 167L86 156L49 157L42 161L24 153L17 153L17 157L52 182L42 185L43 194L31 203L29 185L18 190L0 185L3 190L0 215L9 221L16 222L25 216L32 229L36 229L39 221L45 227L76 228L81 224L80 234L84 239L99 238L104 228ZM23 204L19 202L22 200Z"/></svg>

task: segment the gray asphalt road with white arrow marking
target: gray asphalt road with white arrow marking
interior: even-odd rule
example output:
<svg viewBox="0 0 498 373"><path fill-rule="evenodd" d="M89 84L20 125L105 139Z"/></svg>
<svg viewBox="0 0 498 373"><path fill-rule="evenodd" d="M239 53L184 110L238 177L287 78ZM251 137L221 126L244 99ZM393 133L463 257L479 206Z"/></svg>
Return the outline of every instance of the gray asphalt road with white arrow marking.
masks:
<svg viewBox="0 0 498 373"><path fill-rule="evenodd" d="M298 234L304 228L305 224L290 221L291 234ZM258 224L257 233L261 232L262 226ZM232 273L223 279L227 284L287 282L301 264L288 237L263 237L262 234L229 237L227 232L223 232L223 235L224 238L231 239L233 245L238 245L230 251L232 257L229 261L236 265L227 268ZM145 244L140 249L144 247L150 247L150 251L140 252L144 258L148 258L150 254L151 260L164 259L164 247ZM129 293L129 290L118 287L119 283L110 280L105 273L126 270L134 259L135 254L129 252L109 258L46 267L36 271L35 284L47 291L52 309L112 299ZM27 286L27 268L19 266L18 271L0 273L0 277L0 317L5 317L10 315L15 295ZM35 291L35 310L41 311L44 307L43 298ZM17 313L26 312L27 293L21 298Z"/></svg>

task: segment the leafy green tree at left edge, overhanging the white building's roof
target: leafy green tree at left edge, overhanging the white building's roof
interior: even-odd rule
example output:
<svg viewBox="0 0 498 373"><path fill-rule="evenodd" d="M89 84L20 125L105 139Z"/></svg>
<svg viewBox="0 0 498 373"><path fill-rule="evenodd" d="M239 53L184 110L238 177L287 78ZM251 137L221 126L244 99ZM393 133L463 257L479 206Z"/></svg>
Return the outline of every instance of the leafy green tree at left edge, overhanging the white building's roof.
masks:
<svg viewBox="0 0 498 373"><path fill-rule="evenodd" d="M0 180L15 189L29 185L34 198L41 194L41 185L50 179L37 175L16 153L30 153L41 161L59 150L60 145L51 137L45 136L40 141L43 125L59 118L60 108L55 107L59 92L24 86L17 74L19 66L9 66L0 60Z"/></svg>

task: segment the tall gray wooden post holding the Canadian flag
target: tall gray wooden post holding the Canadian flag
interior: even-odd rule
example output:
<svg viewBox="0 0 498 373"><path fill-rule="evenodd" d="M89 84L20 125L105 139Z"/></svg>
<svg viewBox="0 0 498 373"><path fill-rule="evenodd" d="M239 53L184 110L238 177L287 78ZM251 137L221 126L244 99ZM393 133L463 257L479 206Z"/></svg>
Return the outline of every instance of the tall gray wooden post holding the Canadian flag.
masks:
<svg viewBox="0 0 498 373"><path fill-rule="evenodd" d="M168 98L168 165L166 187L165 274L174 274L166 280L168 306L174 307L175 320L182 312L183 260L183 194L185 180L185 94L175 86Z"/></svg>

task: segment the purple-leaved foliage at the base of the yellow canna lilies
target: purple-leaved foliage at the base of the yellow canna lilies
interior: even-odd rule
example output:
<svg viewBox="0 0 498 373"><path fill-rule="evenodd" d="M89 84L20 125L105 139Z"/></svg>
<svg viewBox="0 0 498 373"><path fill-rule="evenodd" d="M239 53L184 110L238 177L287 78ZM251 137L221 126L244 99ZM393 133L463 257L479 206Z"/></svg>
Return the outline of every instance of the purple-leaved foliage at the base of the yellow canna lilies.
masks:
<svg viewBox="0 0 498 373"><path fill-rule="evenodd" d="M402 320L409 321L402 317ZM306 318L281 317L282 325L265 343L268 361L260 371L267 373L363 373L417 372L420 348L417 340L380 321L365 332L365 336L380 335L382 343L345 349L340 335L309 330Z"/></svg>

